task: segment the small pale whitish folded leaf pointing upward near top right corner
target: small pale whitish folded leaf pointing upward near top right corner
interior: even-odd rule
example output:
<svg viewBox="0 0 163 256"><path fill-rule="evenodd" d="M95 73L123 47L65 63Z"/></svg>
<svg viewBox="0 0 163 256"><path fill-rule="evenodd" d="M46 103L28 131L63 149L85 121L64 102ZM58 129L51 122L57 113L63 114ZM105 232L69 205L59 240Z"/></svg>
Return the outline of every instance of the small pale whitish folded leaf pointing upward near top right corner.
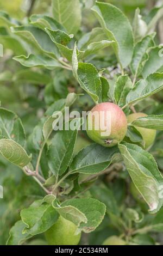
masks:
<svg viewBox="0 0 163 256"><path fill-rule="evenodd" d="M133 32L135 42L140 41L147 33L147 23L142 20L140 15L140 9L135 10L134 22L133 22Z"/></svg>

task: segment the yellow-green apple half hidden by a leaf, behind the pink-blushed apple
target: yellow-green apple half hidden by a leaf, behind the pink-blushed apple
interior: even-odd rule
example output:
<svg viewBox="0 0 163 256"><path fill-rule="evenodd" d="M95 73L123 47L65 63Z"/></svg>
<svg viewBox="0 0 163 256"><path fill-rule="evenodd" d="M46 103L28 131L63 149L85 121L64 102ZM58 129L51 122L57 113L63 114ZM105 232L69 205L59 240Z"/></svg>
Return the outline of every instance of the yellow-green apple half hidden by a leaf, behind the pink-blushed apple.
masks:
<svg viewBox="0 0 163 256"><path fill-rule="evenodd" d="M128 123L132 123L134 120L136 120L139 117L147 117L147 114L140 113L140 112L130 114L127 117ZM136 127L136 130L140 132L143 138L143 141L145 142L145 149L148 149L149 147L151 147L155 140L156 130L146 129L146 128L137 127L137 126L135 127Z"/></svg>

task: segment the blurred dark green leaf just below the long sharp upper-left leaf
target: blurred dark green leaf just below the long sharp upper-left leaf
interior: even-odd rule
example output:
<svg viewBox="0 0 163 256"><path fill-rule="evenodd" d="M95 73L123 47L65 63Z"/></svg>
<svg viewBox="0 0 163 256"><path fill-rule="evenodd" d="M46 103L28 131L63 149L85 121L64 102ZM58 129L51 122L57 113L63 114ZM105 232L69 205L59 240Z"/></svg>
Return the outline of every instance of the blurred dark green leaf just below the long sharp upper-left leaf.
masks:
<svg viewBox="0 0 163 256"><path fill-rule="evenodd" d="M18 72L12 77L12 80L15 82L26 82L32 84L48 84L51 82L51 77L48 74L43 74L41 72L23 69Z"/></svg>

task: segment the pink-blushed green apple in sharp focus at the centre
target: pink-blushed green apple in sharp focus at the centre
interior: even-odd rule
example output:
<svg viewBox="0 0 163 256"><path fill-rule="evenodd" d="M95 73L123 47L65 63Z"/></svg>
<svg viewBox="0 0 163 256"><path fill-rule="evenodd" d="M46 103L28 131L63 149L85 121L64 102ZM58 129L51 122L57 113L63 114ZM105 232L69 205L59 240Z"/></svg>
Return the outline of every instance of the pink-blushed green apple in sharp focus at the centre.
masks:
<svg viewBox="0 0 163 256"><path fill-rule="evenodd" d="M94 117L95 114L98 114L98 119ZM106 135L105 132L108 127L110 132ZM87 115L86 128L87 135L92 141L104 147L114 147L126 135L127 118L122 109L116 104L104 102L93 107Z"/></svg>

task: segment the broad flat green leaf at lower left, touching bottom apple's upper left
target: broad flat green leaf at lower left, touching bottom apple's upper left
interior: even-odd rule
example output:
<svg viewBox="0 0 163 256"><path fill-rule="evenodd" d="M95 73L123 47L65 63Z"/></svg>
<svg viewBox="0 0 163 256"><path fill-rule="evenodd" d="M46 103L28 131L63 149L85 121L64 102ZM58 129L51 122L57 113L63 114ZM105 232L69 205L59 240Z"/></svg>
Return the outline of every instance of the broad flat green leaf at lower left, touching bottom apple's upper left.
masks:
<svg viewBox="0 0 163 256"><path fill-rule="evenodd" d="M21 211L21 218L26 227L23 234L37 235L45 232L58 220L59 214L46 199L37 200Z"/></svg>

